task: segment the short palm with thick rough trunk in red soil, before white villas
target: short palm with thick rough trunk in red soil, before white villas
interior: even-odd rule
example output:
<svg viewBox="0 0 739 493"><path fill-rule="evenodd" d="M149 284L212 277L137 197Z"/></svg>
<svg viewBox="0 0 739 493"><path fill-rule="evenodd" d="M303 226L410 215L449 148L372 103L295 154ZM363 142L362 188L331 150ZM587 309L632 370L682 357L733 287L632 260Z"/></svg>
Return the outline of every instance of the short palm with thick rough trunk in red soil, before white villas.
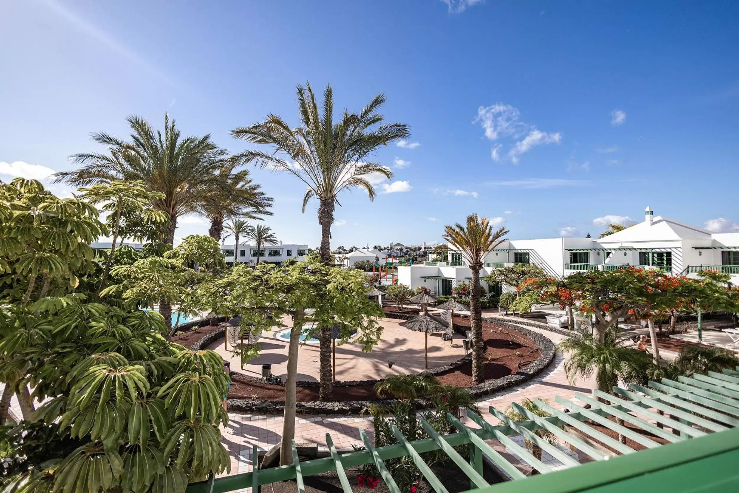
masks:
<svg viewBox="0 0 739 493"><path fill-rule="evenodd" d="M460 251L472 271L471 293L469 296L470 324L472 332L472 384L480 385L485 381L483 364L485 358L485 342L483 341L483 310L480 307L480 270L485 266L483 260L491 251L505 241L508 230L499 228L493 231L488 218L467 216L466 225L459 223L444 226L443 238L449 245Z"/></svg>

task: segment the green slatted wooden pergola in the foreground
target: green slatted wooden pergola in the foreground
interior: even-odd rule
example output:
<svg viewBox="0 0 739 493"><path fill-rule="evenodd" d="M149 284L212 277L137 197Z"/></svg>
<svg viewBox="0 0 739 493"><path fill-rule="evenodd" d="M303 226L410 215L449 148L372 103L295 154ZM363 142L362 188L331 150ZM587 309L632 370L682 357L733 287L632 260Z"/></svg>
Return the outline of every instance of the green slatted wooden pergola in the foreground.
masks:
<svg viewBox="0 0 739 493"><path fill-rule="evenodd" d="M304 493L304 477L329 471L336 472L344 493L350 493L353 490L344 469L367 463L377 466L391 492L400 493L384 461L402 456L412 459L435 492L446 493L443 484L420 455L432 450L442 450L469 477L470 492L739 491L739 429L736 429L739 425L739 371L723 370L723 373L680 376L675 381L650 381L647 387L636 384L632 384L628 390L613 387L613 391L616 395L600 391L594 391L593 394L575 392L580 404L556 397L555 401L567 407L569 412L537 399L534 401L537 407L550 414L546 418L513 404L514 409L525 415L528 421L511 421L499 409L490 407L491 414L502 423L497 425L489 424L482 416L468 409L467 416L480 426L474 429L448 414L446 418L457 432L447 435L438 434L427 421L420 418L420 426L429 438L408 441L398 429L393 428L398 443L379 448L373 446L367 432L361 429L360 436L366 450L359 452L339 454L327 433L329 457L301 462L293 441L293 463L264 470L258 470L258 451L254 446L253 472L194 483L188 487L188 493L231 492L249 487L256 493L259 486L293 479L296 480L298 491ZM590 408L586 409L585 404L590 404ZM616 419L669 443L661 446L650 435L621 426ZM636 452L593 428L589 422L624 435L647 450ZM565 429L562 426L566 426ZM559 441L576 447L595 462L580 466L571 455L534 434L533 431L537 429L547 429ZM522 435L570 469L553 472L551 466L511 440L512 435ZM493 449L488 440L500 441L523 463L542 475L525 477L520 469ZM617 454L593 440L615 450ZM469 461L454 450L455 446L469 446ZM488 485L482 475L483 455L513 480Z"/></svg>

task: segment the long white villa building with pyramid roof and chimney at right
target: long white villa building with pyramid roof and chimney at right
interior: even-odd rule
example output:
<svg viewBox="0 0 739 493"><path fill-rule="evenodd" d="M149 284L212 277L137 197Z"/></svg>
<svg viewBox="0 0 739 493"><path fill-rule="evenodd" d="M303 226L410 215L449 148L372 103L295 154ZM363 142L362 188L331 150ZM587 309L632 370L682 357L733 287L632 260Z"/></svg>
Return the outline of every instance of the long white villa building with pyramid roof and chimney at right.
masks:
<svg viewBox="0 0 739 493"><path fill-rule="evenodd" d="M732 282L739 284L739 233L712 233L667 217L655 217L652 208L647 207L643 222L601 239L506 240L485 256L480 276L488 275L494 268L520 263L538 265L552 276L615 270L626 265L663 268L684 276L712 269L731 274ZM411 288L425 286L437 295L452 294L452 286L469 279L469 267L453 249L446 262L398 267L398 282Z"/></svg>

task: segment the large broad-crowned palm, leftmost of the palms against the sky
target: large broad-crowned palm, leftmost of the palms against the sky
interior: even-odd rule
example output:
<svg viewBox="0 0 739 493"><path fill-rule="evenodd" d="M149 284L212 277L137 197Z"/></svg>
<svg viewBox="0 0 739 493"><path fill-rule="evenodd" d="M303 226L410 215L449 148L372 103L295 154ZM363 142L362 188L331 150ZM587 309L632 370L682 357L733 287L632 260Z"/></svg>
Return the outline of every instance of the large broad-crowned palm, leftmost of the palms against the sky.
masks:
<svg viewBox="0 0 739 493"><path fill-rule="evenodd" d="M197 211L203 197L220 191L230 194L233 188L223 170L233 169L239 158L232 157L211 141L210 135L183 137L169 115L164 116L164 133L155 131L143 118L127 118L132 129L126 141L103 132L92 134L92 140L108 150L108 154L89 152L72 155L80 165L75 171L54 175L55 183L76 186L112 183L115 180L143 181L146 189L164 194L151 201L151 206L166 212L168 225L161 231L161 241L174 243L177 219ZM159 312L171 328L171 305L160 302Z"/></svg>

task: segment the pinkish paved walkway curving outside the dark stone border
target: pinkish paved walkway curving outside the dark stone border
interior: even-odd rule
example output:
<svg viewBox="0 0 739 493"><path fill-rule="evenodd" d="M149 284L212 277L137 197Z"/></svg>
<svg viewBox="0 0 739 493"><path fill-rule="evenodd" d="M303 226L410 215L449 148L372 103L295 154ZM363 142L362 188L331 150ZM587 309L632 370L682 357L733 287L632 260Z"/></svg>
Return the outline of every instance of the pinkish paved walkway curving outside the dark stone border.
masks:
<svg viewBox="0 0 739 493"><path fill-rule="evenodd" d="M543 334L555 344L564 339L564 336L547 330L526 328ZM590 381L576 381L574 386L568 382L565 370L562 367L564 359L561 353L557 353L552 364L537 378L478 402L477 406L480 407L483 418L490 424L500 422L494 415L490 414L489 406L505 411L511 403L520 402L524 398L542 398L550 400L549 404L561 409L562 406L554 402L555 395L575 400L574 392L589 393L591 389ZM229 413L229 419L231 421L225 431L224 443L228 446L231 454L231 474L249 472L251 471L252 447L255 443L259 446L259 449L264 450L279 443L280 433L282 432L282 415L257 416ZM462 421L471 428L477 427L466 417ZM320 448L326 446L326 433L330 433L337 449L351 449L353 445L361 445L359 438L359 429L361 428L367 429L368 435L371 437L372 418L331 415L306 416L303 418L299 416L296 423L295 439L296 442L316 443ZM497 441L490 441L490 443L499 448L500 452L506 453ZM546 456L547 454L545 454L545 462L547 460L554 461L554 459ZM246 492L247 490L243 491Z"/></svg>

